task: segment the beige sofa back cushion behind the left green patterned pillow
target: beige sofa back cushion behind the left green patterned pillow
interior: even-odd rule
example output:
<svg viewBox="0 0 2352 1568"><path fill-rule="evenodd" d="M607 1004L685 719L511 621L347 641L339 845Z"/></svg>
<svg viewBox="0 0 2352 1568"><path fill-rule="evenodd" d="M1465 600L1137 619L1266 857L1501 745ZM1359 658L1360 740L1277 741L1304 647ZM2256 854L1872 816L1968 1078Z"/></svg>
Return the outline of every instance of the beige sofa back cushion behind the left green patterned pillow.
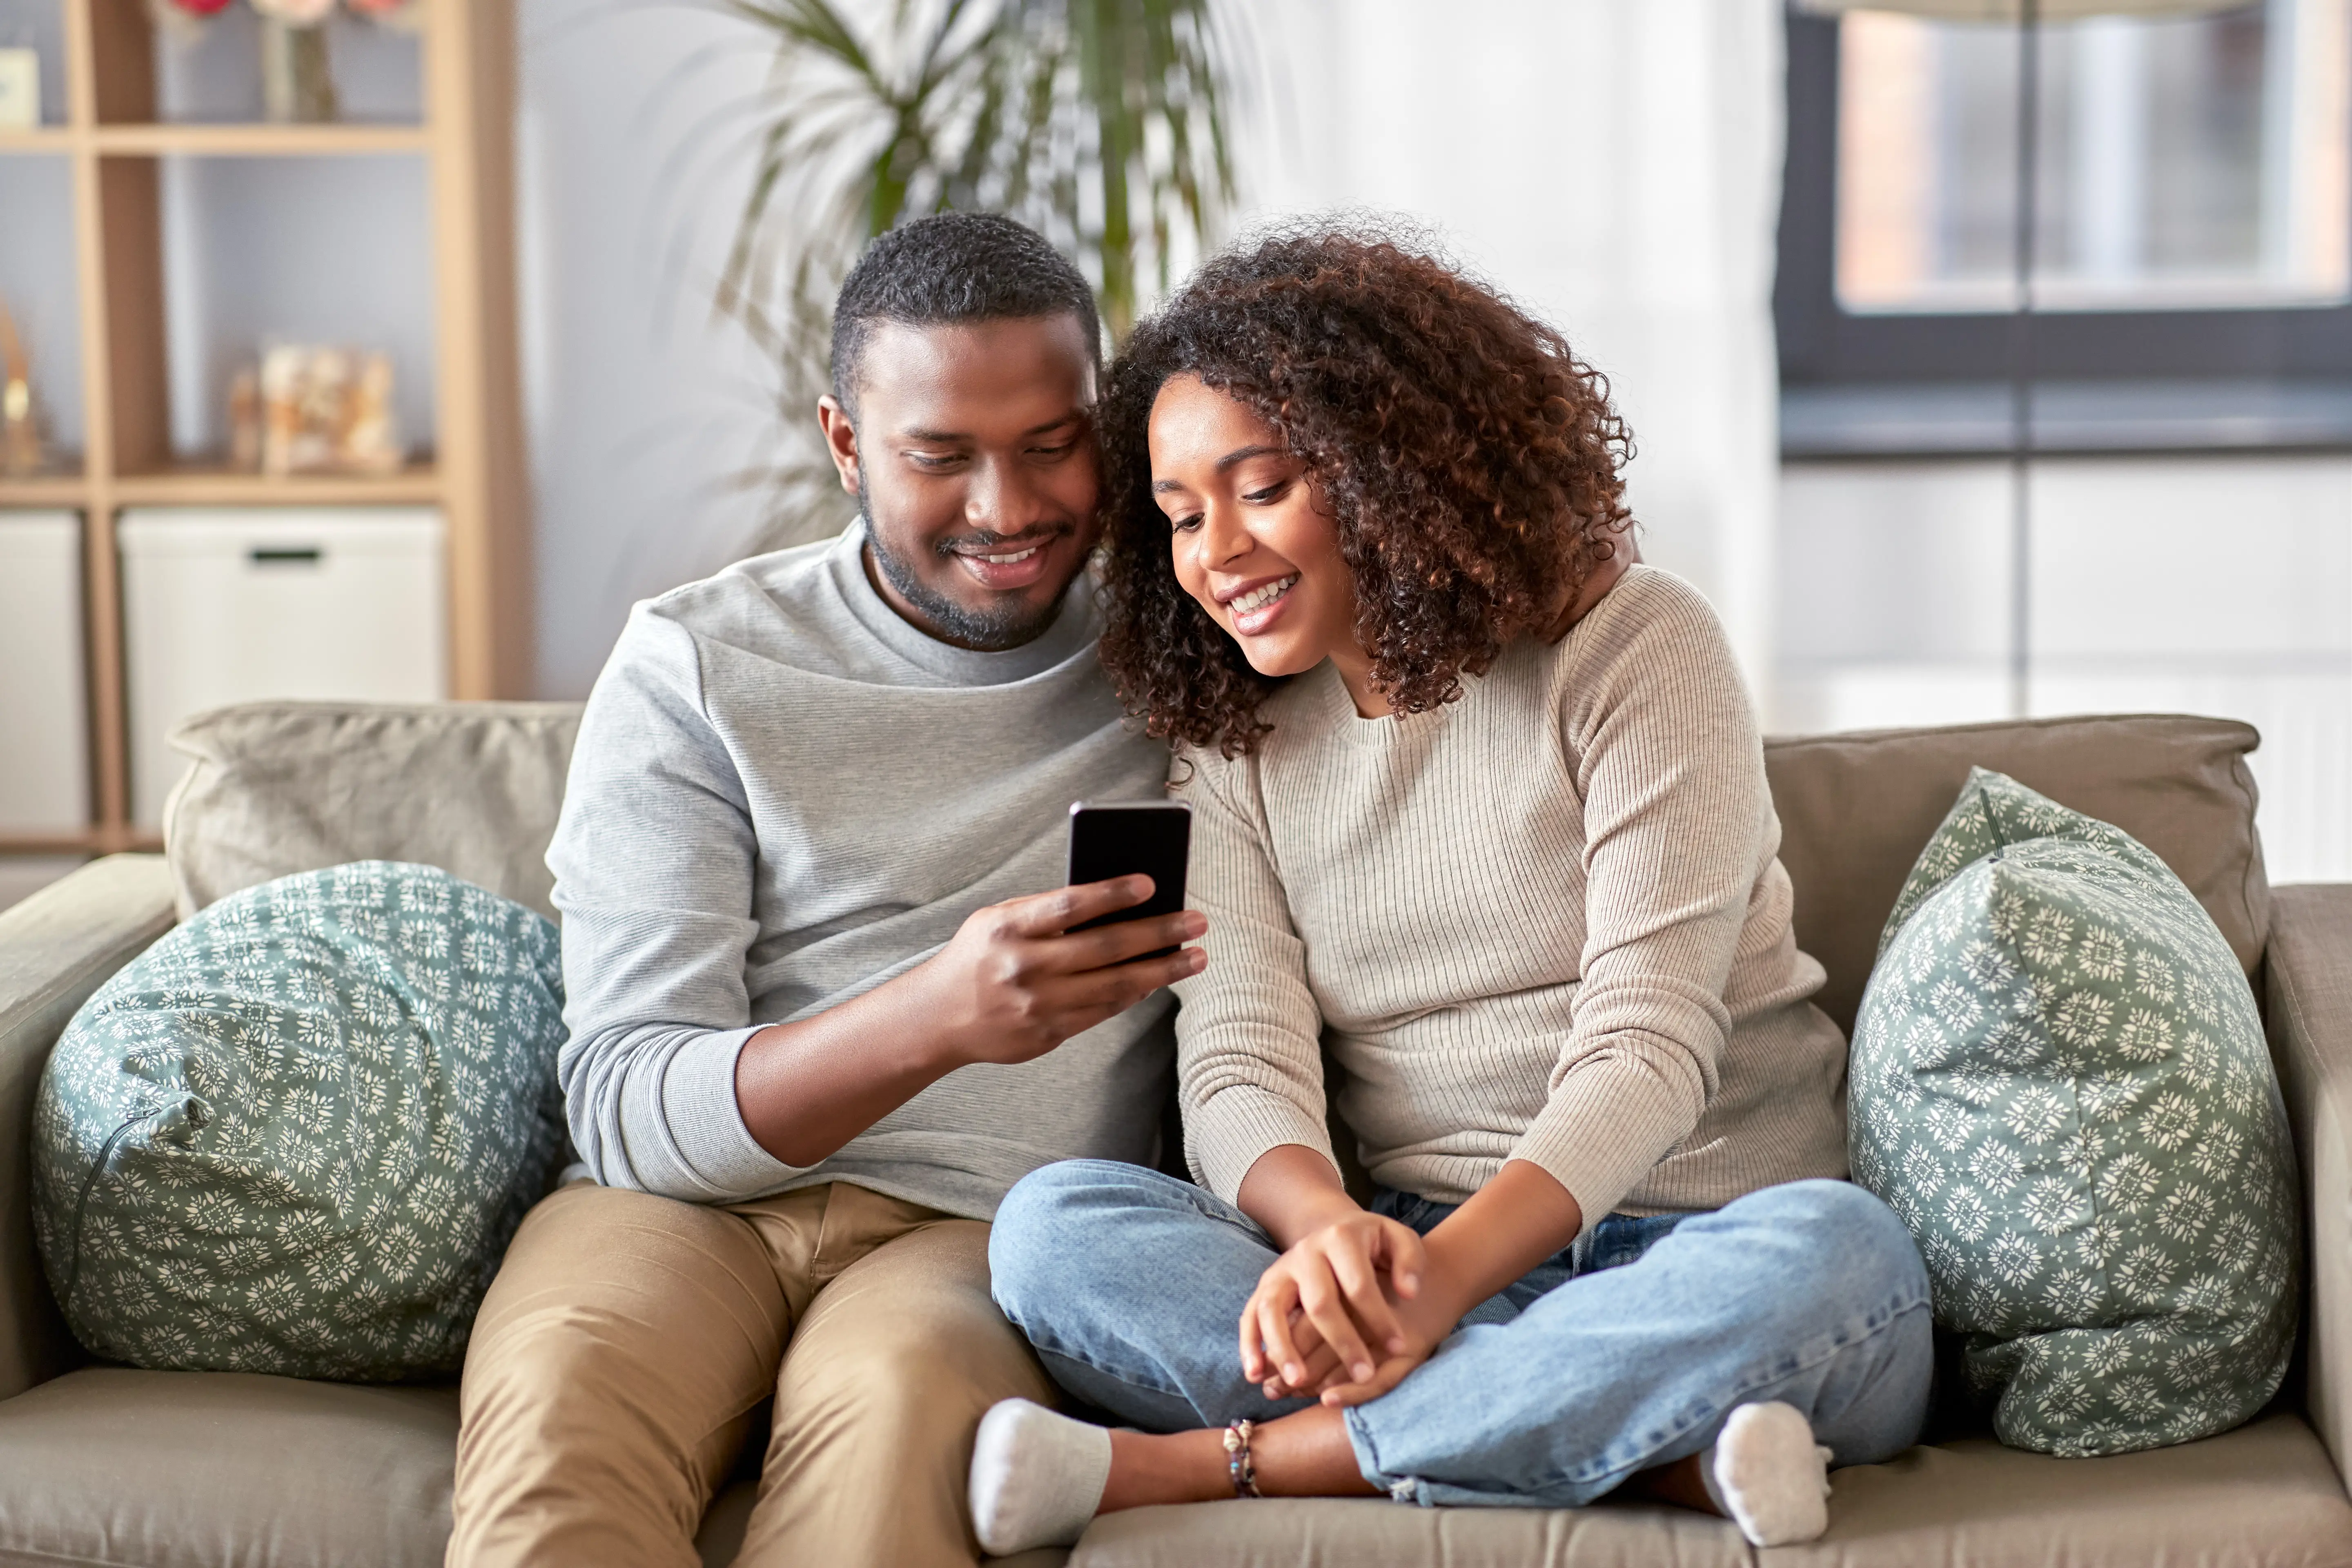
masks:
<svg viewBox="0 0 2352 1568"><path fill-rule="evenodd" d="M165 806L179 914L289 872L416 860L548 919L548 839L579 703L247 703L172 745L195 766Z"/></svg>

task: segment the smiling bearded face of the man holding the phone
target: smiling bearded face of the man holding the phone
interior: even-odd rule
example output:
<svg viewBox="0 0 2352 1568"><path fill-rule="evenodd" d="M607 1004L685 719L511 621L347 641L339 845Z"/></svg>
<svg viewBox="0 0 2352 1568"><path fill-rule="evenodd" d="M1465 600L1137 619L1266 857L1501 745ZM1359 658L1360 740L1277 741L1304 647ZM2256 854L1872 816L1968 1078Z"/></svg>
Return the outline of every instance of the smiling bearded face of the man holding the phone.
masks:
<svg viewBox="0 0 2352 1568"><path fill-rule="evenodd" d="M889 607L964 649L1044 632L1101 534L1080 320L877 322L856 404L854 425L833 397L818 418Z"/></svg>

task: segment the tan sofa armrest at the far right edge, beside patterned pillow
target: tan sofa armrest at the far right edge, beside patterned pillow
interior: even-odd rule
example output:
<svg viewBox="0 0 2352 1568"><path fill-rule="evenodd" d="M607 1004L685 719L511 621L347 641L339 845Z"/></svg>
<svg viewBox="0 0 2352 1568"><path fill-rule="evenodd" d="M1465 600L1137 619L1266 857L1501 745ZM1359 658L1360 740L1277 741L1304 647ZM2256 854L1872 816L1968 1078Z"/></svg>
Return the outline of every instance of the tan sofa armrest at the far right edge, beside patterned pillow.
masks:
<svg viewBox="0 0 2352 1568"><path fill-rule="evenodd" d="M2310 1229L2305 1406L2352 1486L2352 884L2281 886L2272 898L2270 1056Z"/></svg>

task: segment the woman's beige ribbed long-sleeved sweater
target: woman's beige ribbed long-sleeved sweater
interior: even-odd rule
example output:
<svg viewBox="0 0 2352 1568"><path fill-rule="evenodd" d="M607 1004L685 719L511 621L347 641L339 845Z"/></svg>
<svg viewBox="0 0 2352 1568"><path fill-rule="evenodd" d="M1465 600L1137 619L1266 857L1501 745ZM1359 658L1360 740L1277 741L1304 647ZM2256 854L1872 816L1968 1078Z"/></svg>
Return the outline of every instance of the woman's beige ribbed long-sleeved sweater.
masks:
<svg viewBox="0 0 2352 1568"><path fill-rule="evenodd" d="M1724 630L1635 567L1458 703L1362 719L1322 668L1254 757L1185 752L1209 966L1176 987L1192 1173L1331 1154L1463 1201L1505 1159L1611 1211L1846 1173L1846 1041L1790 933L1780 820Z"/></svg>

